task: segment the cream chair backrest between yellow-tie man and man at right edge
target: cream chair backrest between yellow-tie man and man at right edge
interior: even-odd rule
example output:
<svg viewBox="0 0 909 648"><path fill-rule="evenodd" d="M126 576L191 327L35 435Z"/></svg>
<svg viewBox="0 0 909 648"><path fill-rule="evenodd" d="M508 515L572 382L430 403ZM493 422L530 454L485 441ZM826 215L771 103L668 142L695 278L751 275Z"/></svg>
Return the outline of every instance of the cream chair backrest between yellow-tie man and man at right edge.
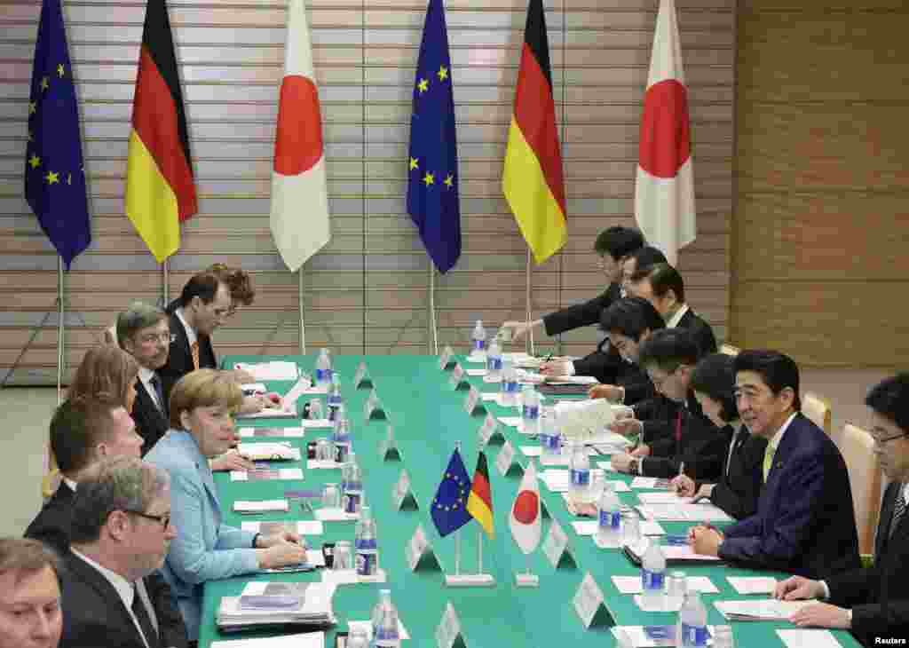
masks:
<svg viewBox="0 0 909 648"><path fill-rule="evenodd" d="M859 552L872 553L874 533L881 514L881 484L884 479L881 464L874 456L874 437L867 430L847 423L840 439L840 451L849 469Z"/></svg>

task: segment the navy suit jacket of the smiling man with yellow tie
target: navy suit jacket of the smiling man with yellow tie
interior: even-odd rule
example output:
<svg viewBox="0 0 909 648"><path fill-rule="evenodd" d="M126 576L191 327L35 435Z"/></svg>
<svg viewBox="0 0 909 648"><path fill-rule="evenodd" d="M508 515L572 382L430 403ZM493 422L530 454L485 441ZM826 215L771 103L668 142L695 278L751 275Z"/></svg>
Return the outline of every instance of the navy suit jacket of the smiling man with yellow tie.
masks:
<svg viewBox="0 0 909 648"><path fill-rule="evenodd" d="M776 449L757 513L725 530L719 554L724 560L808 578L859 566L843 455L804 415L795 415Z"/></svg>

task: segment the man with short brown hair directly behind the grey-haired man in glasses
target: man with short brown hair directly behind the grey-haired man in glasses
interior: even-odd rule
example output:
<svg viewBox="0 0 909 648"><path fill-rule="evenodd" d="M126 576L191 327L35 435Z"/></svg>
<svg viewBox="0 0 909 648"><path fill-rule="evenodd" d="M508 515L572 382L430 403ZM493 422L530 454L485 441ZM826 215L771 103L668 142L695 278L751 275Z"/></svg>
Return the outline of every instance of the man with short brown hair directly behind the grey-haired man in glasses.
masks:
<svg viewBox="0 0 909 648"><path fill-rule="evenodd" d="M73 495L83 474L105 457L138 457L143 440L124 407L103 398L78 398L57 407L50 440L63 479L25 529L25 537L40 540L62 555L69 548Z"/></svg>

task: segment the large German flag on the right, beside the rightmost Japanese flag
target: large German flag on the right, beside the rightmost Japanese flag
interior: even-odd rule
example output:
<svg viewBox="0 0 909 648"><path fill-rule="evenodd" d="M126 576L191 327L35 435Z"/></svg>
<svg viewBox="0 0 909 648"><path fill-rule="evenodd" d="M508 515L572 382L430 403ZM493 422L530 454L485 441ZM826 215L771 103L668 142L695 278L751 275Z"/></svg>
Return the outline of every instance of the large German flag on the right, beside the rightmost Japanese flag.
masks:
<svg viewBox="0 0 909 648"><path fill-rule="evenodd" d="M543 263L565 244L568 226L542 0L527 8L502 189L536 263Z"/></svg>

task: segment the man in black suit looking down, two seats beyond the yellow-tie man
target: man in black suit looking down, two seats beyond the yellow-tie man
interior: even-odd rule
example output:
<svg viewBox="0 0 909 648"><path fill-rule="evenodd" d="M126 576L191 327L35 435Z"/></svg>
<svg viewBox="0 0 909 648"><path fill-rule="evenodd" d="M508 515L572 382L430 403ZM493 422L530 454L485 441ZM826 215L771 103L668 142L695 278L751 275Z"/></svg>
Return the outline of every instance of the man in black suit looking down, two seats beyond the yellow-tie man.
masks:
<svg viewBox="0 0 909 648"><path fill-rule="evenodd" d="M722 473L729 436L717 430L694 400L691 377L698 355L692 335L680 329L656 331L642 344L638 363L658 394L633 406L642 443L629 454L614 454L615 470L699 479Z"/></svg>

